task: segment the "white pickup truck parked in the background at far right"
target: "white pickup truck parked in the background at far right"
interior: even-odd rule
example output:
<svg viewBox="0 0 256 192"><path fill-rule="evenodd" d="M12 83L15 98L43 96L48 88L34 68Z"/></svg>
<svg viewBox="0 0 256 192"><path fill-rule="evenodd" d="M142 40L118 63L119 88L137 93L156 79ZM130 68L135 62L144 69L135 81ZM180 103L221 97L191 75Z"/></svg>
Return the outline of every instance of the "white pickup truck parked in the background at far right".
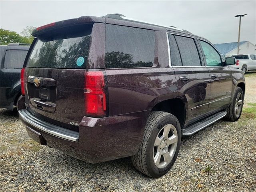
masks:
<svg viewBox="0 0 256 192"><path fill-rule="evenodd" d="M246 71L256 70L256 54L235 54L232 57L236 58L234 68L240 69L245 74Z"/></svg>

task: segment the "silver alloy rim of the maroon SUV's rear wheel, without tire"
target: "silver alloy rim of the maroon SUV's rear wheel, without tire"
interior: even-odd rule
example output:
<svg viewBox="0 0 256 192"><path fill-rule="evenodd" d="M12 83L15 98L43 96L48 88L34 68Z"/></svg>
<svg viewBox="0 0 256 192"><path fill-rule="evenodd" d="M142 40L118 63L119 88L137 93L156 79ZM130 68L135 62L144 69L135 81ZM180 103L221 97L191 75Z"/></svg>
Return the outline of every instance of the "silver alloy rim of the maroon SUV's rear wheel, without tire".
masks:
<svg viewBox="0 0 256 192"><path fill-rule="evenodd" d="M170 164L176 152L178 134L172 124L167 124L158 132L154 143L153 157L157 168Z"/></svg>

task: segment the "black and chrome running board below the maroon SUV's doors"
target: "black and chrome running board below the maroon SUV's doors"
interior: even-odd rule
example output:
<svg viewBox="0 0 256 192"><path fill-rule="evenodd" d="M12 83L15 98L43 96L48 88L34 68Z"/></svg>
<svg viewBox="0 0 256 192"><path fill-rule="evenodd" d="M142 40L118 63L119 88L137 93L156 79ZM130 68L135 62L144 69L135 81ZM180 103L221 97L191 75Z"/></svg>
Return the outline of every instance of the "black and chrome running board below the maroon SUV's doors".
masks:
<svg viewBox="0 0 256 192"><path fill-rule="evenodd" d="M220 120L221 118L226 116L226 114L227 114L226 111L221 111L212 116L209 116L208 118L205 118L204 120L201 120L200 122L196 122L195 124L192 124L186 127L182 132L182 136L190 136L200 131L203 128L209 126L210 124L213 124L214 122Z"/></svg>

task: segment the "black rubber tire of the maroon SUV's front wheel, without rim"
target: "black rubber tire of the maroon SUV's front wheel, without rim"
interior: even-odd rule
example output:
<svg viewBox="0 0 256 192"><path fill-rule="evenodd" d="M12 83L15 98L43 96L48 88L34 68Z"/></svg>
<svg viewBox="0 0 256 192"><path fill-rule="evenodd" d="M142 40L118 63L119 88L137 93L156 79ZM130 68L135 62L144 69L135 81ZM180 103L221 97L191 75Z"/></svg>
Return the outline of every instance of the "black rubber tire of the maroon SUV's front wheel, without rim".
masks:
<svg viewBox="0 0 256 192"><path fill-rule="evenodd" d="M241 94L241 96L242 96L242 104L241 104L240 112L238 113L238 116L237 116L235 107L236 107L236 98L238 97L238 94ZM243 105L244 105L243 90L240 87L236 87L235 94L234 94L234 97L232 99L232 102L231 102L230 106L227 109L227 114L226 114L226 117L225 117L226 120L228 120L228 121L237 121L241 116Z"/></svg>

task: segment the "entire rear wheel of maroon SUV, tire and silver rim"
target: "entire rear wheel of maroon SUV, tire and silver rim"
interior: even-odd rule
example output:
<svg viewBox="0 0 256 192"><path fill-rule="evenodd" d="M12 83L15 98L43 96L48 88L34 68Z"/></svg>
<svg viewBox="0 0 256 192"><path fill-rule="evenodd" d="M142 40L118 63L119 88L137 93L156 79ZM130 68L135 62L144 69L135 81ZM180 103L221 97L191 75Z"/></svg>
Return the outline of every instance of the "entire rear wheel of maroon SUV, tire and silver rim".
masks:
<svg viewBox="0 0 256 192"><path fill-rule="evenodd" d="M140 150L132 156L133 165L152 178L166 174L178 156L180 140L180 123L174 115L161 111L151 112Z"/></svg>

